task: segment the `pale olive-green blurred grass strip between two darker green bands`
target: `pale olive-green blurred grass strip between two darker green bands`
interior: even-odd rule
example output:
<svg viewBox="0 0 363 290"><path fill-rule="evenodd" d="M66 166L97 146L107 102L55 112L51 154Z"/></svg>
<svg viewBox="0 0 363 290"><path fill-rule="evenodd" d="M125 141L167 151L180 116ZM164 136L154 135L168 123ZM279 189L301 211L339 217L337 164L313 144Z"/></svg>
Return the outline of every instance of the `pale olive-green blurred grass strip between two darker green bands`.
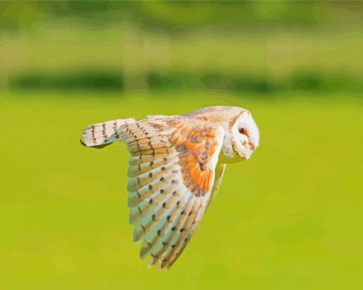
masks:
<svg viewBox="0 0 363 290"><path fill-rule="evenodd" d="M78 68L122 71L125 61L132 61L140 66L134 70L160 72L262 72L284 78L308 69L362 77L363 63L357 61L363 50L360 27L193 29L173 37L134 29L128 31L133 38L125 40L123 26L90 29L70 20L52 21L34 26L31 33L0 34L0 56L6 56L0 58L1 74L6 69L14 75L24 70L50 74Z"/></svg>

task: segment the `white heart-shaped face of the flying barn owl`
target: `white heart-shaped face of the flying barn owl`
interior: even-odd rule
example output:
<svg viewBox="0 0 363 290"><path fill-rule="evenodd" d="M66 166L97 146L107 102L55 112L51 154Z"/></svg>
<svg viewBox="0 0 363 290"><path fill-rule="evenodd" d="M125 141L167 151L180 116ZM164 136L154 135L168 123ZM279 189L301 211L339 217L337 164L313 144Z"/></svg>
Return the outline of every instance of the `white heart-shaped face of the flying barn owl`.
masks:
<svg viewBox="0 0 363 290"><path fill-rule="evenodd" d="M241 113L231 118L228 123L228 133L226 134L227 140L225 139L225 153L228 154L226 151L232 149L234 154L229 152L232 158L235 157L233 155L237 155L236 157L241 157L243 160L249 159L260 143L260 133L248 110L242 110ZM230 144L228 144L229 142Z"/></svg>

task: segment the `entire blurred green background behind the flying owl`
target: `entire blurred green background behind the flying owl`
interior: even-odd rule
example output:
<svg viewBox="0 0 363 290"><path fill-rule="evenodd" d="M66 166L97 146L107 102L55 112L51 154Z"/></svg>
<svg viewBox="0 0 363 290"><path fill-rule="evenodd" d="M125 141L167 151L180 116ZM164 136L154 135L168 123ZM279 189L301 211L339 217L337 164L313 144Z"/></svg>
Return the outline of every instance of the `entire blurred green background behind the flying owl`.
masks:
<svg viewBox="0 0 363 290"><path fill-rule="evenodd" d="M360 1L1 1L1 289L362 289ZM169 271L127 224L127 150L86 125L252 111Z"/></svg>

